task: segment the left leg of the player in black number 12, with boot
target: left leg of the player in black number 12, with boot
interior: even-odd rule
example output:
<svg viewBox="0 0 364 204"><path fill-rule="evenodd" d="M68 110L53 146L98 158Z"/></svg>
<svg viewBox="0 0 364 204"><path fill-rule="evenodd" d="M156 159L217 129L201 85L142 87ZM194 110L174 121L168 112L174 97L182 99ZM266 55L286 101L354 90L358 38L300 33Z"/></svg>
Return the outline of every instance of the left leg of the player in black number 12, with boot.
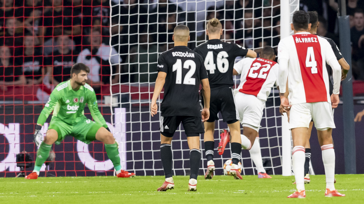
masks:
<svg viewBox="0 0 364 204"><path fill-rule="evenodd" d="M173 135L171 135L173 136ZM168 189L174 188L174 181L172 178L172 138L166 137L161 134L161 160L165 175L165 181L162 186L157 189L157 191L167 191Z"/></svg>

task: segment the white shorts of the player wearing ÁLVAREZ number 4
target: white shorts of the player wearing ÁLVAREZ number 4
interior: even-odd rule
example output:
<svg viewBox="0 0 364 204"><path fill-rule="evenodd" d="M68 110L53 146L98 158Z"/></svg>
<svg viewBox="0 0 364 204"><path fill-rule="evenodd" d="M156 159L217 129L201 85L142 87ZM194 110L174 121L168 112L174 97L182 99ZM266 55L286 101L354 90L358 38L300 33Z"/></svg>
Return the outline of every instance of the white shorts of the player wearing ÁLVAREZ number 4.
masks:
<svg viewBox="0 0 364 204"><path fill-rule="evenodd" d="M317 130L335 128L333 109L329 102L300 103L292 105L289 113L289 127L309 127L311 119Z"/></svg>

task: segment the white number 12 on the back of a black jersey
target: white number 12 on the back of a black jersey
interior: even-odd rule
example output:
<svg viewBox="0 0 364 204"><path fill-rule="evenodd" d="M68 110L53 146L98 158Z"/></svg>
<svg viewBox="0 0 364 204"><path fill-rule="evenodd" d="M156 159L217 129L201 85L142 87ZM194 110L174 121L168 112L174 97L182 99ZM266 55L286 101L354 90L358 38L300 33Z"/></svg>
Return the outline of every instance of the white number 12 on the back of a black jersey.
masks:
<svg viewBox="0 0 364 204"><path fill-rule="evenodd" d="M192 75L196 71L196 64L193 60L186 60L185 63L183 63L183 68L188 69L191 68L186 76L185 79L183 79L183 84L189 84L189 85L195 85L195 78L191 78ZM177 59L177 62L173 65L173 72L177 70L176 75L176 83L181 84L182 83L182 61L181 59Z"/></svg>

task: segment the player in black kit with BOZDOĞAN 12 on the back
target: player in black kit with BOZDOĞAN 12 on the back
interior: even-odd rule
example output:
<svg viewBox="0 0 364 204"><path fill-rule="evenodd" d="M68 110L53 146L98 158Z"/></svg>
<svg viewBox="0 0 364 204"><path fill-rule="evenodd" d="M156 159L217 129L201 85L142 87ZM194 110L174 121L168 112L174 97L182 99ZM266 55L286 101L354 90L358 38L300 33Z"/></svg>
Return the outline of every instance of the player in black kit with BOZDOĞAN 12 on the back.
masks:
<svg viewBox="0 0 364 204"><path fill-rule="evenodd" d="M174 48L163 52L158 58L158 77L155 81L150 106L152 117L157 114L157 98L164 85L164 98L161 103L161 160L165 182L158 191L174 188L172 178L172 137L179 124L185 128L190 148L191 175L188 191L196 191L197 175L201 162L199 135L203 133L203 123L209 119L210 87L202 57L187 48L190 30L185 25L174 28ZM205 106L201 113L199 105L199 85L202 84Z"/></svg>

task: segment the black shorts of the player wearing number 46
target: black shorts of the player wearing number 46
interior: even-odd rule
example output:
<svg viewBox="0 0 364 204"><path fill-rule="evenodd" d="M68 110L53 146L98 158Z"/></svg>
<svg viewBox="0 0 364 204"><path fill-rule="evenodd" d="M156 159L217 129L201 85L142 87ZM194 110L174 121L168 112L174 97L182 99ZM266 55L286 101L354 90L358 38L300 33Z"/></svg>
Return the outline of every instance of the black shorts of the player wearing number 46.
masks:
<svg viewBox="0 0 364 204"><path fill-rule="evenodd" d="M202 90L201 103L203 106ZM210 90L210 118L207 122L217 121L219 111L221 111L222 120L227 124L239 121L239 112L235 105L234 93L231 87L225 86Z"/></svg>

